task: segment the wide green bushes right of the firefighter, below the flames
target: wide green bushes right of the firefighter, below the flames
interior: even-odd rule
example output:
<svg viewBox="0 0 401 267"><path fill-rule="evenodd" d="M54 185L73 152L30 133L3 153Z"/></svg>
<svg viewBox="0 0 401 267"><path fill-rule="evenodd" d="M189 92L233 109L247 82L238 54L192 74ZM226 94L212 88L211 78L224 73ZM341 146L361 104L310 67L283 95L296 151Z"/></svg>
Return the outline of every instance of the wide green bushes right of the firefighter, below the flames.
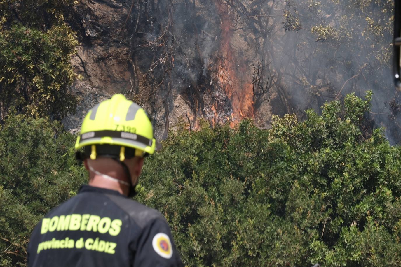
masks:
<svg viewBox="0 0 401 267"><path fill-rule="evenodd" d="M138 199L167 218L188 266L401 265L401 151L367 127L370 99L271 130L181 125L146 160Z"/></svg>

